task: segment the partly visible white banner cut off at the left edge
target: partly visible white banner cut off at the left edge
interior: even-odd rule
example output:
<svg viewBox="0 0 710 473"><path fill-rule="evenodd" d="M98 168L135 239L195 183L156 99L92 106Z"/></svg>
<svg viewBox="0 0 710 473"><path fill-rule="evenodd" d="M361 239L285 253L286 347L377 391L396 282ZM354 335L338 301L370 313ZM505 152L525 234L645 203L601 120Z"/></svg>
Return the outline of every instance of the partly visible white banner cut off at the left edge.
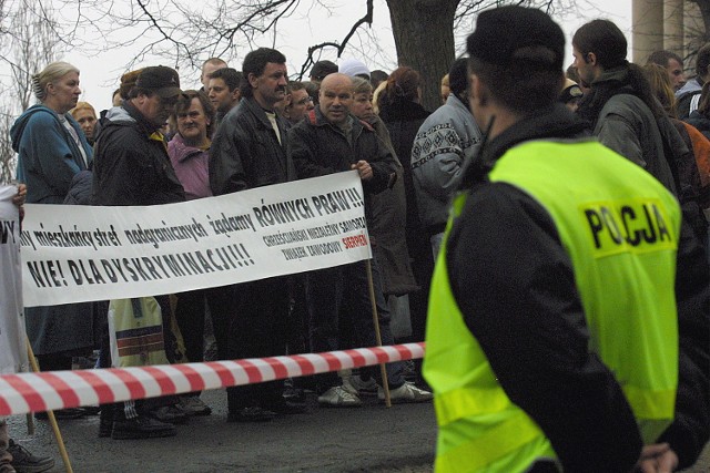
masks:
<svg viewBox="0 0 710 473"><path fill-rule="evenodd" d="M0 374L27 371L18 188L0 185Z"/></svg>

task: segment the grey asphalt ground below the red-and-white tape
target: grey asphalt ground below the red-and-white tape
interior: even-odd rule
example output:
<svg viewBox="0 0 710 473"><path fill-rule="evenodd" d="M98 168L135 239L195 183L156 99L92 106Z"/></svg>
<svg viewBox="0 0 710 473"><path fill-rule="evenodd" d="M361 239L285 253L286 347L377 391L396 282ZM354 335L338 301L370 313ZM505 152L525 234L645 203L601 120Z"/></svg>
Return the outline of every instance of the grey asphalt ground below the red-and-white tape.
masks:
<svg viewBox="0 0 710 473"><path fill-rule="evenodd" d="M178 426L171 439L98 439L99 418L60 423L77 473L303 472L425 473L432 471L436 422L430 403L386 409L365 399L359 409L321 409L265 424L227 424L225 393L203 393L210 417ZM312 400L313 403L314 400ZM45 421L27 435L24 418L10 433L31 451L52 455L64 471ZM710 448L689 473L710 472Z"/></svg>

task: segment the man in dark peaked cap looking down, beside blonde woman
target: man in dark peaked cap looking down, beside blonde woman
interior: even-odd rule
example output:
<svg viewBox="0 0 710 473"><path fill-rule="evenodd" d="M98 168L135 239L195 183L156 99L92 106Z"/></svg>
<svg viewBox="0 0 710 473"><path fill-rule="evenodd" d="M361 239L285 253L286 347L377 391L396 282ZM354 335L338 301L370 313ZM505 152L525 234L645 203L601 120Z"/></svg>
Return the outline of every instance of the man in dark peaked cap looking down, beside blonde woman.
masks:
<svg viewBox="0 0 710 473"><path fill-rule="evenodd" d="M166 143L160 132L181 94L178 72L162 65L145 68L128 92L128 100L109 110L94 145L94 160L101 160L100 163L94 161L94 205L161 205L185 200L185 192L170 163ZM168 296L156 296L155 299L162 313L170 313ZM165 317L164 320L169 319ZM171 340L166 327L163 327L163 332L165 340ZM171 350L166 348L171 360ZM106 351L105 347L102 351ZM148 439L174 435L172 424L150 417L153 413L149 412L148 404L135 401L133 405L129 401L115 405L112 411L104 407L99 436ZM155 402L150 404L155 405ZM169 405L162 408L172 409ZM104 411L110 414L105 415Z"/></svg>

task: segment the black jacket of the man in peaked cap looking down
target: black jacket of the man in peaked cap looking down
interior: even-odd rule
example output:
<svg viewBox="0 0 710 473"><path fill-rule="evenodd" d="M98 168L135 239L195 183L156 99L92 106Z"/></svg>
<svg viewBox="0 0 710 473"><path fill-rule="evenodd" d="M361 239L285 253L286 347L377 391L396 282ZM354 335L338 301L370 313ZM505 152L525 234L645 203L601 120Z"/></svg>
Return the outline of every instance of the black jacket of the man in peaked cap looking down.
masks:
<svg viewBox="0 0 710 473"><path fill-rule="evenodd" d="M185 200L158 127L130 101L106 114L95 144L94 205L160 205Z"/></svg>

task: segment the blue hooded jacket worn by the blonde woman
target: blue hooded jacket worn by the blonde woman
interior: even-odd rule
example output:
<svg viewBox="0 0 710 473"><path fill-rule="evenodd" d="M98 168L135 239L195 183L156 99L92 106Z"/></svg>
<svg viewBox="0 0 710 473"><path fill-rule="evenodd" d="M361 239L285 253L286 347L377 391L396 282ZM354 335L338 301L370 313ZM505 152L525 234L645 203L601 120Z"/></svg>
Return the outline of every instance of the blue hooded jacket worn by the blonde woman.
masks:
<svg viewBox="0 0 710 473"><path fill-rule="evenodd" d="M29 204L61 204L77 173L91 162L92 150L77 121L64 114L74 128L79 145L53 110L38 104L16 120L10 136L18 153L18 179L27 184Z"/></svg>

